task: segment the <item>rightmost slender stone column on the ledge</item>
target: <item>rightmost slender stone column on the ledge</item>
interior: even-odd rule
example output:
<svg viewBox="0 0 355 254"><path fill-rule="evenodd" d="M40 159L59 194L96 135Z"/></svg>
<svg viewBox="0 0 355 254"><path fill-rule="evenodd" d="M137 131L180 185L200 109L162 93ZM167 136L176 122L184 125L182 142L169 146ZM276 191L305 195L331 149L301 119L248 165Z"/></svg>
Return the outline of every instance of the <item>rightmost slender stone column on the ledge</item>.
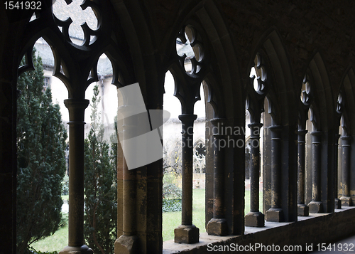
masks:
<svg viewBox="0 0 355 254"><path fill-rule="evenodd" d="M350 196L350 149L351 136L342 136L342 206L352 206Z"/></svg>

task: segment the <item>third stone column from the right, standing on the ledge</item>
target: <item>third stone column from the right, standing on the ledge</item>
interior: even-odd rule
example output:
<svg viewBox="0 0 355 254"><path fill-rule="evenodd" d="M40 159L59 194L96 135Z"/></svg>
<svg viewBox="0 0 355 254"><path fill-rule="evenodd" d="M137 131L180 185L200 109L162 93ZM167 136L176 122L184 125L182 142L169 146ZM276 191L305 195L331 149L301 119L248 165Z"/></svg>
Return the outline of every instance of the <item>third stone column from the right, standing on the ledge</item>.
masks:
<svg viewBox="0 0 355 254"><path fill-rule="evenodd" d="M312 201L308 204L310 213L322 213L323 207L320 201L320 169L321 169L321 141L322 132L312 134Z"/></svg>

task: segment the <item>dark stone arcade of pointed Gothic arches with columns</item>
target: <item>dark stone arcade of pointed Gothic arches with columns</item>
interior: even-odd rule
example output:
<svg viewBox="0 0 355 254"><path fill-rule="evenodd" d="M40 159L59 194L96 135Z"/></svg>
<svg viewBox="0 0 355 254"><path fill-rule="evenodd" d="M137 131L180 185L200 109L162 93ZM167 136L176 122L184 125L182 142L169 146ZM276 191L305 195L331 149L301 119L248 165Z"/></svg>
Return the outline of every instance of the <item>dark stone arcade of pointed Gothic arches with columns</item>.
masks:
<svg viewBox="0 0 355 254"><path fill-rule="evenodd" d="M161 235L162 160L128 170L119 152L116 253L204 253L207 243L217 242L305 246L355 232L352 1L84 0L82 9L91 8L98 22L95 29L82 26L82 45L70 41L71 19L54 16L52 0L41 3L35 16L0 6L0 253L16 253L16 80L31 69L40 37L53 50L53 75L68 90L70 230L61 253L91 251L83 240L84 95L97 80L102 53L111 60L113 85L139 83L147 110L163 109L170 70L181 102L182 142L192 135L187 129L203 84L206 126L213 130L206 137L207 233L192 224L193 151L187 145L175 243L163 245ZM178 44L193 53L177 51ZM19 68L23 55L27 64ZM134 102L124 103L122 112L134 110ZM234 131L245 128L246 110L251 200L244 200L245 132ZM262 148L253 145L259 142ZM246 214L245 202L251 203Z"/></svg>

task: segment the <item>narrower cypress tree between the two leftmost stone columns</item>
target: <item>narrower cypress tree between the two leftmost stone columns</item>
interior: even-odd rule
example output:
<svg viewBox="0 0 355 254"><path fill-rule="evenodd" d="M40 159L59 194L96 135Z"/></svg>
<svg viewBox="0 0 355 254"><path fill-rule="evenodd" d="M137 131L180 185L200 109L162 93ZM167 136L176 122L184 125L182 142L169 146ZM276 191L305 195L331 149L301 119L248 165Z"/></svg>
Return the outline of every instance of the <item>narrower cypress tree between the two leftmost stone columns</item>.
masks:
<svg viewBox="0 0 355 254"><path fill-rule="evenodd" d="M114 253L117 222L116 144L104 142L98 112L99 87L92 97L92 127L85 139L84 237L94 253ZM116 137L117 140L117 137Z"/></svg>

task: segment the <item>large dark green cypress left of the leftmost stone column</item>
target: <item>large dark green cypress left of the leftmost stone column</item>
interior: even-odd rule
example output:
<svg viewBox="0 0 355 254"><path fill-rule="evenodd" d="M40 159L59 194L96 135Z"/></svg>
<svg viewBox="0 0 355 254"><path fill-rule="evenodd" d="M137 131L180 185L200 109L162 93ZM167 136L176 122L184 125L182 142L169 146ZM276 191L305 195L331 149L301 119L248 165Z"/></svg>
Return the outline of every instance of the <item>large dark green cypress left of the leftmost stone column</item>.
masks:
<svg viewBox="0 0 355 254"><path fill-rule="evenodd" d="M21 90L16 127L18 253L55 233L62 217L67 133L50 88L43 92L41 58L33 57L33 65L35 70L20 75L17 84Z"/></svg>

